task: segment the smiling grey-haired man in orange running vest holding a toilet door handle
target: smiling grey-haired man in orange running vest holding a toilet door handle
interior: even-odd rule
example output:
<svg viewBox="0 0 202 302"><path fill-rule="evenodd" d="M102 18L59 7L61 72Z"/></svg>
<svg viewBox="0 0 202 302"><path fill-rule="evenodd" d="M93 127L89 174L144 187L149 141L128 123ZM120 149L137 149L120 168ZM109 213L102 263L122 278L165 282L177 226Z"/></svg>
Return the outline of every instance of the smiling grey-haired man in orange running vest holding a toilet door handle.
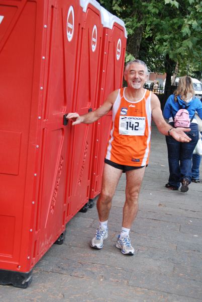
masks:
<svg viewBox="0 0 202 302"><path fill-rule="evenodd" d="M148 78L147 65L141 60L127 63L124 78L128 87L112 92L106 102L93 112L79 116L69 113L72 125L93 123L112 110L112 130L107 146L102 190L97 200L99 225L90 246L101 249L108 237L108 217L117 184L126 172L126 201L121 234L116 247L125 255L134 255L129 232L138 211L138 196L149 161L151 118L164 135L188 142L185 128L170 128L163 118L158 97L143 88Z"/></svg>

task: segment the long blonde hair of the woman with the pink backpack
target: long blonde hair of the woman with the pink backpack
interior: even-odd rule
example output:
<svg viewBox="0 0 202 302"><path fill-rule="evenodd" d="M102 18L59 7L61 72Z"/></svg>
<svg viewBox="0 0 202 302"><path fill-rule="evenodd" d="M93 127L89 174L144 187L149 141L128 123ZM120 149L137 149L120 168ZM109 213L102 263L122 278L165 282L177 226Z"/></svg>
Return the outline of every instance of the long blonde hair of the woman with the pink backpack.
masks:
<svg viewBox="0 0 202 302"><path fill-rule="evenodd" d="M195 92L193 90L193 84L190 77L184 75L184 77L179 79L178 87L174 91L174 96L175 102L177 102L177 96L180 96L184 102L188 102L190 98L194 98Z"/></svg>

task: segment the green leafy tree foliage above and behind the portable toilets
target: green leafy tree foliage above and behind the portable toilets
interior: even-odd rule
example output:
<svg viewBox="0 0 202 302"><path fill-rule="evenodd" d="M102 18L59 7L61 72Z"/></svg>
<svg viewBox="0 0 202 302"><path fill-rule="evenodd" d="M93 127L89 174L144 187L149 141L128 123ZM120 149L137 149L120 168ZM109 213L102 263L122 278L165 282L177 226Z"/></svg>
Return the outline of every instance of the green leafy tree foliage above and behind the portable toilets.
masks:
<svg viewBox="0 0 202 302"><path fill-rule="evenodd" d="M100 0L99 3L125 22L126 60L143 59L151 71L166 72L168 82L176 64L180 75L186 74L187 66L190 73L202 69L202 1Z"/></svg>

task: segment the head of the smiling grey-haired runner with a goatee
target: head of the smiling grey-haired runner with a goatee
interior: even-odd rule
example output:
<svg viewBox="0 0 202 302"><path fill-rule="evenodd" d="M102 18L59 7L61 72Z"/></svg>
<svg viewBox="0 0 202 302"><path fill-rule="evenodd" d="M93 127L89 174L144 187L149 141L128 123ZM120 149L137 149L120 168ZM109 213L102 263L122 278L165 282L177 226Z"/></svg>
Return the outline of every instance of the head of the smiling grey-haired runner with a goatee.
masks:
<svg viewBox="0 0 202 302"><path fill-rule="evenodd" d="M140 89L147 81L148 74L146 74L146 68L139 63L132 63L128 66L126 73L124 73L124 79L128 83L128 87L134 89Z"/></svg>

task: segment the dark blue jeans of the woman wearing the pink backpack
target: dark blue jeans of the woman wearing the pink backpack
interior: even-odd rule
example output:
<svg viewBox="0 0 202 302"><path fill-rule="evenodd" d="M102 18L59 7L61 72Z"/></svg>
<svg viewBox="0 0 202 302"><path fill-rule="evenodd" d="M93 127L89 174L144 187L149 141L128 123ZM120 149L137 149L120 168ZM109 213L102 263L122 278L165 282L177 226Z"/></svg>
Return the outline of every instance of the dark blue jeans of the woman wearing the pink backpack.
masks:
<svg viewBox="0 0 202 302"><path fill-rule="evenodd" d="M173 123L170 124L173 126ZM190 125L190 128L191 131L186 132L191 138L189 142L179 142L172 136L166 136L170 172L168 182L177 189L184 178L188 179L189 183L191 182L191 159L198 141L198 126L194 123Z"/></svg>

